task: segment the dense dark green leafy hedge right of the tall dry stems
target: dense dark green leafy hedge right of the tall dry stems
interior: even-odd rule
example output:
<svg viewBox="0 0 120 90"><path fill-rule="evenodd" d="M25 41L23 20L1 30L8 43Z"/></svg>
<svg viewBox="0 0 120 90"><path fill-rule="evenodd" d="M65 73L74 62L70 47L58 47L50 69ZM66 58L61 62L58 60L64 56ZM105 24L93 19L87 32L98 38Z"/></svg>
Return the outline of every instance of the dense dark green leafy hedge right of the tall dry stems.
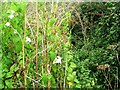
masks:
<svg viewBox="0 0 120 90"><path fill-rule="evenodd" d="M77 78L83 79L81 78L81 74L83 74L81 72L84 70L80 68L84 67L90 71L89 78L96 78L96 87L98 85L113 89L118 88L120 85L120 80L116 78L116 75L120 77L120 72L118 72L120 70L119 6L120 2L84 3L78 5L77 12L81 17L83 26L86 28L86 36L82 31L78 16L73 11L74 23L72 22L71 24L71 43L75 53L73 61L78 65ZM81 62L84 62L84 64ZM97 68L99 65L105 64L110 65L110 67L104 70Z"/></svg>

